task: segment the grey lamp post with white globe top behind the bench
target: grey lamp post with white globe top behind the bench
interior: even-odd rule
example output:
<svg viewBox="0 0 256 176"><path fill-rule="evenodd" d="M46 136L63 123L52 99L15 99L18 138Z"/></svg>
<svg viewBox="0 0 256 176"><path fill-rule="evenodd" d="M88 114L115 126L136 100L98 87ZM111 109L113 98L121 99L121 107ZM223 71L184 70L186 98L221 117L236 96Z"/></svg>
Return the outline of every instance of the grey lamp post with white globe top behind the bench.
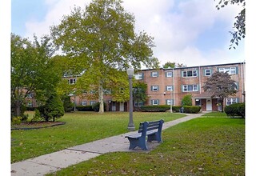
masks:
<svg viewBox="0 0 256 176"><path fill-rule="evenodd" d="M129 106L130 115L129 115L128 130L133 131L135 130L134 119L133 119L134 105L133 105L133 82L132 82L132 78L134 77L134 68L129 68L126 71L129 78L129 90L130 90L130 106Z"/></svg>

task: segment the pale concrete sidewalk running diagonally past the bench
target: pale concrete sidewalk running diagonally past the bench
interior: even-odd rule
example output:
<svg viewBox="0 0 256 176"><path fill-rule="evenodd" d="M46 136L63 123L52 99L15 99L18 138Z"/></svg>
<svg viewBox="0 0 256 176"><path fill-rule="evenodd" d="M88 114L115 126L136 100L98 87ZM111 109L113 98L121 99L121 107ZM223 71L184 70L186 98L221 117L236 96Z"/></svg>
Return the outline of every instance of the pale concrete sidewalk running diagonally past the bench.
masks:
<svg viewBox="0 0 256 176"><path fill-rule="evenodd" d="M169 128L170 126L177 125L178 123L186 122L193 118L198 118L202 116L202 114L204 113L187 114L187 116L184 118L178 118L174 121L165 122L163 124L162 130ZM130 143L128 139L125 138L125 136L134 133L137 133L137 131L70 147L66 150L61 150L52 154L45 154L37 158L27 159L22 162L15 162L11 165L11 175L34 176L49 174L79 162L89 160L90 158L97 157L100 154L106 154L115 151L150 152L150 150L154 150L154 148L159 145L158 142L148 142L147 145L149 150L145 151L137 148L135 150L129 150L128 148Z"/></svg>

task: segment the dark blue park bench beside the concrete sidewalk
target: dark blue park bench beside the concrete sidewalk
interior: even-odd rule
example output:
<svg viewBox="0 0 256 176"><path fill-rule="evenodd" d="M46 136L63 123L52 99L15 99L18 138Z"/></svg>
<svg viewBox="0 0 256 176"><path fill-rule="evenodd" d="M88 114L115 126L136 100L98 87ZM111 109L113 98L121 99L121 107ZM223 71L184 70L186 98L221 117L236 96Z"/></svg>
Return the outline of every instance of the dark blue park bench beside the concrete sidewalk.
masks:
<svg viewBox="0 0 256 176"><path fill-rule="evenodd" d="M130 141L129 150L134 149L136 146L142 148L142 150L148 150L147 142L157 141L162 142L162 124L163 120L154 122L141 122L139 124L138 133L126 136Z"/></svg>

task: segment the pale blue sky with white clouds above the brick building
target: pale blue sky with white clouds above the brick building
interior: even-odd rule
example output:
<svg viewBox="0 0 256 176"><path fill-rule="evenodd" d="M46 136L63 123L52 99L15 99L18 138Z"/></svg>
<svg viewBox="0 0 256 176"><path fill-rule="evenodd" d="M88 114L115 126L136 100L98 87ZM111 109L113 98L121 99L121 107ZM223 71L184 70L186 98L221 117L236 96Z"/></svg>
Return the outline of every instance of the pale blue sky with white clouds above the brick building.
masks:
<svg viewBox="0 0 256 176"><path fill-rule="evenodd" d="M50 34L74 6L90 0L12 0L11 32L30 37ZM154 37L154 56L161 66L178 62L186 66L243 62L244 42L229 50L234 17L241 6L217 10L214 0L124 0L125 10L136 19L135 31Z"/></svg>

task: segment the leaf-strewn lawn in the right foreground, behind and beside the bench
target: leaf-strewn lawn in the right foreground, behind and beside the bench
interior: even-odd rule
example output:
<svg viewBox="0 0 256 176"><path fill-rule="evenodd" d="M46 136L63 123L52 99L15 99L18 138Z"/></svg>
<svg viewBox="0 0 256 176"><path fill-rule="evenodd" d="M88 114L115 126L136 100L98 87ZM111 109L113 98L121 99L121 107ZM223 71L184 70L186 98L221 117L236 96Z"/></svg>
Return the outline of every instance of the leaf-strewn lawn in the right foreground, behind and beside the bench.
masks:
<svg viewBox="0 0 256 176"><path fill-rule="evenodd" d="M245 175L245 119L206 114L162 132L150 153L116 152L48 175Z"/></svg>

